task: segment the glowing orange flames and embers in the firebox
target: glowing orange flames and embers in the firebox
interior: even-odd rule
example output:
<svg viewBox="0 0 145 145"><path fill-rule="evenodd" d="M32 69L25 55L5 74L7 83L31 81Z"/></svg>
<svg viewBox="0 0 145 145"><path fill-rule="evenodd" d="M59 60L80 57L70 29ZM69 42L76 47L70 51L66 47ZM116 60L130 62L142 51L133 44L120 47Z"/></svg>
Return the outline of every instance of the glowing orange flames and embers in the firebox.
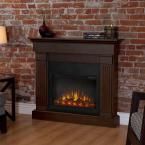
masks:
<svg viewBox="0 0 145 145"><path fill-rule="evenodd" d="M94 100L86 96L83 92L72 91L68 92L55 100L56 105L72 106L72 107L83 107L83 108L94 108Z"/></svg>

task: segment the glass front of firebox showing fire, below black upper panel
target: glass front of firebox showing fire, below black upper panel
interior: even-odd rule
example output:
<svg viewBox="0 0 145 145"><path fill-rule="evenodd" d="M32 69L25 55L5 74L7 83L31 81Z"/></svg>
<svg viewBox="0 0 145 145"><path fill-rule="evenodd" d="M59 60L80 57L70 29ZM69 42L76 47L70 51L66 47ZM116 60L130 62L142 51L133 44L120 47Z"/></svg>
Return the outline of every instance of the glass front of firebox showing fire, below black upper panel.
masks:
<svg viewBox="0 0 145 145"><path fill-rule="evenodd" d="M49 109L78 114L97 114L99 98L94 76L53 75Z"/></svg>

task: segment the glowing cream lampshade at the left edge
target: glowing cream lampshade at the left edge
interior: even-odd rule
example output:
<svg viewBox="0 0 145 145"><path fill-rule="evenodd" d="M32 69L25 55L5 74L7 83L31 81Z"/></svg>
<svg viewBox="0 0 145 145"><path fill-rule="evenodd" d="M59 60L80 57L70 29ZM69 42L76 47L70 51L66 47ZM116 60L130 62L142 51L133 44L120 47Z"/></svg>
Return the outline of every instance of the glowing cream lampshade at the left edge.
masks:
<svg viewBox="0 0 145 145"><path fill-rule="evenodd" d="M6 27L0 26L0 44L7 43L7 34L6 34Z"/></svg>

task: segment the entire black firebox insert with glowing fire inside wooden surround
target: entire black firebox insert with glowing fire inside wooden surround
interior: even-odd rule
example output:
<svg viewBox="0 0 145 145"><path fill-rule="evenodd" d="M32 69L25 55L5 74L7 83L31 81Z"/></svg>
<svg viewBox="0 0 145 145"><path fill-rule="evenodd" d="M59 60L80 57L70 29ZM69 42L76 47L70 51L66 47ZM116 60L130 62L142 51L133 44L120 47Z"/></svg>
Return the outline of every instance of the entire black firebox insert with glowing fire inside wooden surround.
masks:
<svg viewBox="0 0 145 145"><path fill-rule="evenodd" d="M99 114L99 64L50 62L48 109Z"/></svg>

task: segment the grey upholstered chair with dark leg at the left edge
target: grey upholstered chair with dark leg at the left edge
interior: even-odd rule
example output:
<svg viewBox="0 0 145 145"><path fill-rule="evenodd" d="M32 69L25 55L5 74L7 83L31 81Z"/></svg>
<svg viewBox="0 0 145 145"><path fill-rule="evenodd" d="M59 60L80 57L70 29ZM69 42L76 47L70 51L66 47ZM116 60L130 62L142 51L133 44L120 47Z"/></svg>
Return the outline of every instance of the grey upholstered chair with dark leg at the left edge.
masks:
<svg viewBox="0 0 145 145"><path fill-rule="evenodd" d="M0 92L0 131L1 133L7 132L7 120L5 112L5 95L3 92Z"/></svg>

